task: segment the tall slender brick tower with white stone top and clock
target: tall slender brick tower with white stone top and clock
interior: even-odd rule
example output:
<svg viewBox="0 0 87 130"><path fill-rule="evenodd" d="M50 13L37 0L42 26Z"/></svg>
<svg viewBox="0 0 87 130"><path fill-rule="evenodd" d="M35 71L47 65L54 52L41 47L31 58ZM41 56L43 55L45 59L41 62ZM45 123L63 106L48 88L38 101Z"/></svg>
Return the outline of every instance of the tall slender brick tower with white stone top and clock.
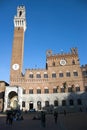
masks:
<svg viewBox="0 0 87 130"><path fill-rule="evenodd" d="M14 17L14 38L12 48L12 59L10 68L10 85L22 74L24 33L26 30L25 7L17 7L17 15Z"/></svg>

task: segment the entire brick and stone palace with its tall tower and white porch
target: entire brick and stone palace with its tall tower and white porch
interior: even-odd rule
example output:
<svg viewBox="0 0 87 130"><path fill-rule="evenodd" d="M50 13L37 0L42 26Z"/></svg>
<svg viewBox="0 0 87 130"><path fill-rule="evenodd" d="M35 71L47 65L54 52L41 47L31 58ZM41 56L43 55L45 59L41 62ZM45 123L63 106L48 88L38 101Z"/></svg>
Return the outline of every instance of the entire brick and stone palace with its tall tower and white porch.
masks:
<svg viewBox="0 0 87 130"><path fill-rule="evenodd" d="M10 67L10 85L5 86L4 111L58 109L76 111L87 107L87 65L80 66L78 49L68 53L46 52L45 69L23 68L26 11L17 7Z"/></svg>

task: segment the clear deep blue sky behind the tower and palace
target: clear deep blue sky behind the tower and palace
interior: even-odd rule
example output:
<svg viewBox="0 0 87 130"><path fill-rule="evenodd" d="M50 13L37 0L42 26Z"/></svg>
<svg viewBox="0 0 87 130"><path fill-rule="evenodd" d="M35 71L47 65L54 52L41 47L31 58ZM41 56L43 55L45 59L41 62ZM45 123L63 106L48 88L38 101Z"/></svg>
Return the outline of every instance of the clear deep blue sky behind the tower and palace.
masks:
<svg viewBox="0 0 87 130"><path fill-rule="evenodd" d="M77 47L80 65L87 64L87 0L0 0L0 80L9 83L14 16L26 8L25 69L45 68L46 51Z"/></svg>

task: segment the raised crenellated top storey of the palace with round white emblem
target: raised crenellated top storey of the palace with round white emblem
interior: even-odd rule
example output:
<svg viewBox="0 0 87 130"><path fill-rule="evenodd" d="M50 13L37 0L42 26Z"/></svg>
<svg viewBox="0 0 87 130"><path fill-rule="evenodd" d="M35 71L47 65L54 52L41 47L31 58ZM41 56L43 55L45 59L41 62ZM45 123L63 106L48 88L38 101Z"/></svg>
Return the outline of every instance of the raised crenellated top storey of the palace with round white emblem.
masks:
<svg viewBox="0 0 87 130"><path fill-rule="evenodd" d="M79 63L77 48L71 48L70 52L64 53L63 51L58 54L53 54L51 50L46 52L46 65L47 68L61 65L75 65Z"/></svg>

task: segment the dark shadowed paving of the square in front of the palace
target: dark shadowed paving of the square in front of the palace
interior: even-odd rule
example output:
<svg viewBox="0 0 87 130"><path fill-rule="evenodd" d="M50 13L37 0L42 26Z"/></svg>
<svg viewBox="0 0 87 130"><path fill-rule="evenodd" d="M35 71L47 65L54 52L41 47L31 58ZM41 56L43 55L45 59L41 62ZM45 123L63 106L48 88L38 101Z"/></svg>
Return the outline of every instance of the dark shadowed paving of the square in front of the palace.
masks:
<svg viewBox="0 0 87 130"><path fill-rule="evenodd" d="M32 120L35 113L24 114L24 120L6 124L6 116L0 114L0 130L87 130L87 113L71 113L64 116L59 114L57 124L52 114L46 115L46 127L41 126L40 120Z"/></svg>

